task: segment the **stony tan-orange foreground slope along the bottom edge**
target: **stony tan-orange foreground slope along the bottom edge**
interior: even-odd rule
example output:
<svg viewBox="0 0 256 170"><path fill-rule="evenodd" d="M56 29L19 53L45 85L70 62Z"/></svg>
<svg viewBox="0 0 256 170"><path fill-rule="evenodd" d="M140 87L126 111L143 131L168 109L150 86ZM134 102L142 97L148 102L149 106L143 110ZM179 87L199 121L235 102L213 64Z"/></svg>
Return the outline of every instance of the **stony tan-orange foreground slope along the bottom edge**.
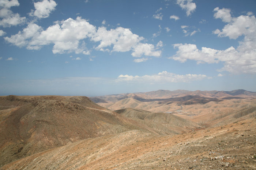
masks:
<svg viewBox="0 0 256 170"><path fill-rule="evenodd" d="M138 130L31 155L7 169L256 169L256 118L178 135Z"/></svg>

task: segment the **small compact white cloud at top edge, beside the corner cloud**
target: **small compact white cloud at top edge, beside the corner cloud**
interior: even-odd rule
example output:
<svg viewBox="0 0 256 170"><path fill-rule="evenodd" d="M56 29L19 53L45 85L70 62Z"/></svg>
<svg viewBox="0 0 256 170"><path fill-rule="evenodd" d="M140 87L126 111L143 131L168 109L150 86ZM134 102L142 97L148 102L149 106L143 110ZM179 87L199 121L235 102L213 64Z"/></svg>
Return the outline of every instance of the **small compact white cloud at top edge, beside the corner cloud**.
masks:
<svg viewBox="0 0 256 170"><path fill-rule="evenodd" d="M38 18L47 18L50 16L50 13L55 10L56 6L57 4L53 0L39 1L34 3L35 11L31 10L29 15L36 16Z"/></svg>

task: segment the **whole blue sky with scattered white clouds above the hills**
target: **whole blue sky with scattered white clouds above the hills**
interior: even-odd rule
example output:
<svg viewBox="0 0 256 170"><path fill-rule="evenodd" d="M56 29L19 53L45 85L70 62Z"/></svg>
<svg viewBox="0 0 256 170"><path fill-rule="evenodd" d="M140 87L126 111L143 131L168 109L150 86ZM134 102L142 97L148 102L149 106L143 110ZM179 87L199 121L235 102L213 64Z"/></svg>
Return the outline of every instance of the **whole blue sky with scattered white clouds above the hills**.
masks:
<svg viewBox="0 0 256 170"><path fill-rule="evenodd" d="M256 91L255 0L0 0L0 95Z"/></svg>

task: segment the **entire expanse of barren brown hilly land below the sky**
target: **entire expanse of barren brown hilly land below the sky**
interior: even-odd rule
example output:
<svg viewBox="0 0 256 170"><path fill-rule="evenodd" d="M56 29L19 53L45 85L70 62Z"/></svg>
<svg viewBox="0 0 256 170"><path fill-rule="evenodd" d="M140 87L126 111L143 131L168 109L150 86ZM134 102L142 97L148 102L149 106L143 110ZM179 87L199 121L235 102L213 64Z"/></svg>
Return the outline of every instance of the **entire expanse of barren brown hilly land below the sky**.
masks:
<svg viewBox="0 0 256 170"><path fill-rule="evenodd" d="M0 96L0 169L256 169L256 92Z"/></svg>

